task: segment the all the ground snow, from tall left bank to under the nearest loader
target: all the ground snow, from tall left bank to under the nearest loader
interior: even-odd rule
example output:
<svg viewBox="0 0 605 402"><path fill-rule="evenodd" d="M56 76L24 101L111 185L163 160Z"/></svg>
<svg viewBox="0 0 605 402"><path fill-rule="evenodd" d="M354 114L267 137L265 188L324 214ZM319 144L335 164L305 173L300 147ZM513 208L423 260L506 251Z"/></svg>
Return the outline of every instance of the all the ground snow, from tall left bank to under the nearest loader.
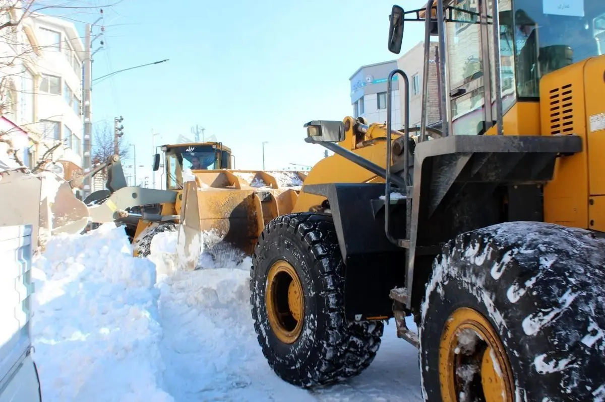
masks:
<svg viewBox="0 0 605 402"><path fill-rule="evenodd" d="M250 260L175 271L170 235L154 238L149 259L133 258L123 229L103 225L53 237L36 258L33 356L45 402L421 400L416 350L394 322L348 383L310 392L280 380L253 330Z"/></svg>

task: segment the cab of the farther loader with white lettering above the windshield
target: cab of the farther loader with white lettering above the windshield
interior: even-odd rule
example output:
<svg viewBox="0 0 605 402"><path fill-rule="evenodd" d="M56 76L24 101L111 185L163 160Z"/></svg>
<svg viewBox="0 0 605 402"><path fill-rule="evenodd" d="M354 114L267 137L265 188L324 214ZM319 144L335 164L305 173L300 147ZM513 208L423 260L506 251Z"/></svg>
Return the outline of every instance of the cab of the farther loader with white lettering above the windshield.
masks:
<svg viewBox="0 0 605 402"><path fill-rule="evenodd" d="M231 149L220 142L163 145L162 150L166 158L166 189L168 190L183 188L184 172L231 169Z"/></svg>

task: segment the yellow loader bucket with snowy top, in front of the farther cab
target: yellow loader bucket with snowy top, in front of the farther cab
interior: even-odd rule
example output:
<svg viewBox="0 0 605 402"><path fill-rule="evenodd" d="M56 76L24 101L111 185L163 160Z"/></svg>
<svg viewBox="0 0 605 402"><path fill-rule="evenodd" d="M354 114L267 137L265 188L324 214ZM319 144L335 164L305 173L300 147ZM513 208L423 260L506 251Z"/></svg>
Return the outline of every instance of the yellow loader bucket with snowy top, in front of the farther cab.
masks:
<svg viewBox="0 0 605 402"><path fill-rule="evenodd" d="M298 189L285 184L302 183L299 172L253 170L193 171L195 180L185 182L178 232L178 260L182 269L198 267L203 251L234 247L252 254L258 236L270 220L292 211ZM293 174L284 180L278 174ZM295 187L295 188L292 188ZM204 235L205 234L205 235Z"/></svg>

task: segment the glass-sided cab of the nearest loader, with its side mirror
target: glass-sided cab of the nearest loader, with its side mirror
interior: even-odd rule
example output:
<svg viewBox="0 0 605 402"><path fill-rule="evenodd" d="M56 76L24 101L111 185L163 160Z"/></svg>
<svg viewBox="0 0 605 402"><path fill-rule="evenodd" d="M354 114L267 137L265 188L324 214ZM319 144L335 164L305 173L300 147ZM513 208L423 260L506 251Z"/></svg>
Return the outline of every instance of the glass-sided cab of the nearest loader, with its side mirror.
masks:
<svg viewBox="0 0 605 402"><path fill-rule="evenodd" d="M433 19L436 19L433 2ZM491 0L443 0L445 95L441 120L448 133L495 133L495 57ZM605 52L605 2L499 0L500 98L506 132L540 132L540 78ZM562 5L562 6L561 6ZM405 22L425 22L426 7L391 12L389 49L401 50ZM438 36L431 22L431 36ZM436 45L432 43L431 46ZM440 52L441 53L441 52ZM437 69L439 71L439 68ZM487 106L486 106L487 105ZM492 130L490 130L492 129Z"/></svg>

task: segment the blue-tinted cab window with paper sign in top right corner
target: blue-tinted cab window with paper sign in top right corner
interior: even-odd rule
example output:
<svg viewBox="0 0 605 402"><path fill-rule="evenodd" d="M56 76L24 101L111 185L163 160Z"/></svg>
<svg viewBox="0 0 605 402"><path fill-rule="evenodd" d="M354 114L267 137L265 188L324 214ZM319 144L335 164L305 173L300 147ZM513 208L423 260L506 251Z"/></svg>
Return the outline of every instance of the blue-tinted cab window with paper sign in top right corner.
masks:
<svg viewBox="0 0 605 402"><path fill-rule="evenodd" d="M603 1L515 0L513 18L519 97L538 97L543 75L605 51Z"/></svg>

